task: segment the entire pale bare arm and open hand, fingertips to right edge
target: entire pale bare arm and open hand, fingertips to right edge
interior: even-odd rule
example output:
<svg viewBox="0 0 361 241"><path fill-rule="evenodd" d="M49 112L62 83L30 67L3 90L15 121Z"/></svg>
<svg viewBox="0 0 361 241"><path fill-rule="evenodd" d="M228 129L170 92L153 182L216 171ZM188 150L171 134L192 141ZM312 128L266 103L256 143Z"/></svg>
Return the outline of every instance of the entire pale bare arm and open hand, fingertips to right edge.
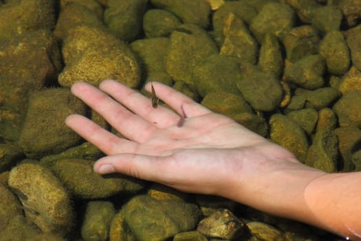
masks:
<svg viewBox="0 0 361 241"><path fill-rule="evenodd" d="M307 167L287 149L171 87L157 82L153 87L175 112L161 105L153 108L149 98L117 81L103 81L99 89L83 82L72 86L75 96L127 138L84 116L67 117L69 127L107 155L94 165L96 172L223 196L361 239L360 172L325 174ZM151 92L150 83L146 90Z"/></svg>

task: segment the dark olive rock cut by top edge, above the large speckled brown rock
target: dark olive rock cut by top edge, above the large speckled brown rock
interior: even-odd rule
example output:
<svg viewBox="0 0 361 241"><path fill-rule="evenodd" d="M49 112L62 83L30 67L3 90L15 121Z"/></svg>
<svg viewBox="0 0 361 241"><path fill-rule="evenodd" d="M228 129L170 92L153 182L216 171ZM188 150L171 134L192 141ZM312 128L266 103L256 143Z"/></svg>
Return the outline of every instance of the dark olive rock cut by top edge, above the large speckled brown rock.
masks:
<svg viewBox="0 0 361 241"><path fill-rule="evenodd" d="M108 0L104 22L115 36L132 41L142 33L148 0Z"/></svg>

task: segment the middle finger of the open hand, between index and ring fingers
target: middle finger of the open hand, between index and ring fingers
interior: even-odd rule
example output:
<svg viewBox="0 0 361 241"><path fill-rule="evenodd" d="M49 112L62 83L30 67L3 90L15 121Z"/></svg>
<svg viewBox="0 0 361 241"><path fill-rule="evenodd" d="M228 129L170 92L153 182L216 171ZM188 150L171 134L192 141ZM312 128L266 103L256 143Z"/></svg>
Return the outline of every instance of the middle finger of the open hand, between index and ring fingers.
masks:
<svg viewBox="0 0 361 241"><path fill-rule="evenodd" d="M130 140L142 143L157 130L153 123L133 114L93 85L84 82L75 83L72 85L72 93L96 110L111 126Z"/></svg>

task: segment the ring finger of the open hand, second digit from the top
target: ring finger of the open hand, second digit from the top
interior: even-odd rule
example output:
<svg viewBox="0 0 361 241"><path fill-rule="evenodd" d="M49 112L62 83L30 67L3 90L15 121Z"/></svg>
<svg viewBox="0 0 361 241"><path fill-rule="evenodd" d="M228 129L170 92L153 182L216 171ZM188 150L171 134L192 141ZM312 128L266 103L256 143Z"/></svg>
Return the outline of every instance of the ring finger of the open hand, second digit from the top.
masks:
<svg viewBox="0 0 361 241"><path fill-rule="evenodd" d="M154 108L146 96L120 84L118 81L106 80L100 83L100 90L107 92L133 113L138 114L146 121L157 127L168 127L179 120L179 115L162 106Z"/></svg>

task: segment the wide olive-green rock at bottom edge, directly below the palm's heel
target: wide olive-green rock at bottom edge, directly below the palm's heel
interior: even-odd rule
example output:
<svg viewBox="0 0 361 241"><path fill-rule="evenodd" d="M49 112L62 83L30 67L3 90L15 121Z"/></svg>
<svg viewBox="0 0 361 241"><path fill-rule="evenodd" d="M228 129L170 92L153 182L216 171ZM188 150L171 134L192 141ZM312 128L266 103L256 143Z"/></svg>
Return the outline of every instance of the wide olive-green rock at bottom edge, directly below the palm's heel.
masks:
<svg viewBox="0 0 361 241"><path fill-rule="evenodd" d="M135 196L122 208L124 217L139 241L166 240L195 228L201 213L197 205L175 200L159 201Z"/></svg>

